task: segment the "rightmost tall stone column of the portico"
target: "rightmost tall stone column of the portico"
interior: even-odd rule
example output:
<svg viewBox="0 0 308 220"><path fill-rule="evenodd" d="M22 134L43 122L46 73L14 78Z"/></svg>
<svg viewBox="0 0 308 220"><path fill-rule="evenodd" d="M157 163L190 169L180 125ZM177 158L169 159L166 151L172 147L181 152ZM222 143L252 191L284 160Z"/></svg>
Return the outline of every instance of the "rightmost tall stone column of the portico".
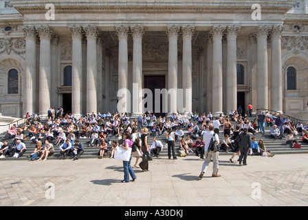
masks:
<svg viewBox="0 0 308 220"><path fill-rule="evenodd" d="M271 58L271 109L283 111L283 74L281 61L281 32L283 26L272 28L272 58Z"/></svg>

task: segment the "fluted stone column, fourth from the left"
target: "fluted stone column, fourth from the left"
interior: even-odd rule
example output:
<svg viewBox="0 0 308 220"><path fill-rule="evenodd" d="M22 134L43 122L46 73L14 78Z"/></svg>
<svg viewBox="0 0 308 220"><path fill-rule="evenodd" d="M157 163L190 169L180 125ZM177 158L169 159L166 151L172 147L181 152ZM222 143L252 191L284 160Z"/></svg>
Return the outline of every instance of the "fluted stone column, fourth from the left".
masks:
<svg viewBox="0 0 308 220"><path fill-rule="evenodd" d="M83 28L87 35L87 113L97 113L97 53L96 39L98 30L95 26L88 25Z"/></svg>

